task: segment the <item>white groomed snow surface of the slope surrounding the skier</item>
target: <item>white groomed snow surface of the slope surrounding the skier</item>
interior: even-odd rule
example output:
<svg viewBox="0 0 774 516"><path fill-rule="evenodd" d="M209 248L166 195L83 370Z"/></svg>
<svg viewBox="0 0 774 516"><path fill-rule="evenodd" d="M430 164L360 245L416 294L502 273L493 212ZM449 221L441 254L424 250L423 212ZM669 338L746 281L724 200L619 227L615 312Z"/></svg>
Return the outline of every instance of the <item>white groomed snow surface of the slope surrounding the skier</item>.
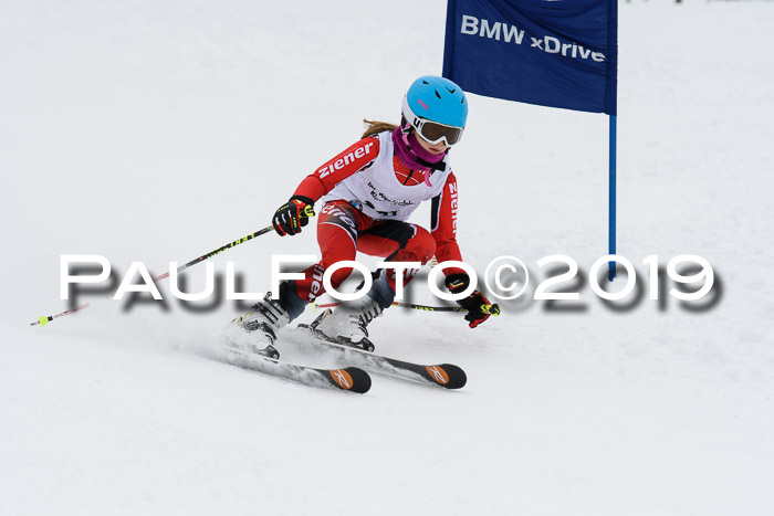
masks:
<svg viewBox="0 0 774 516"><path fill-rule="evenodd" d="M397 122L411 81L440 73L444 15L440 0L0 2L1 514L773 514L772 2L620 4L618 251L642 273L651 254L705 257L709 309L646 295L614 312L587 284L585 310L503 303L475 330L393 308L372 326L381 352L469 383L374 377L365 396L211 360L233 304L92 296L28 326L66 307L61 254L159 274L269 224L363 117ZM607 249L607 117L469 98L452 157L466 260L516 255L540 278L561 253L587 273ZM272 254L314 252L307 230L212 262L265 291ZM325 362L293 339L283 357Z"/></svg>

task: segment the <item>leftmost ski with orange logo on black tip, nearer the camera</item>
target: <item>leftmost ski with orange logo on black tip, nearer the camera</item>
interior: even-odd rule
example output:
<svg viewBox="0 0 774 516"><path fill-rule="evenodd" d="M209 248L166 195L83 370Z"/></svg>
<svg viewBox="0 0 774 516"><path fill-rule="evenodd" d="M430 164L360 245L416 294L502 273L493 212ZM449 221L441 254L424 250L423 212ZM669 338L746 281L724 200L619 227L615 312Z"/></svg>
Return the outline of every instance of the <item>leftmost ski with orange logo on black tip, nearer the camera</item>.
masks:
<svg viewBox="0 0 774 516"><path fill-rule="evenodd" d="M279 358L263 356L228 347L227 355L220 358L231 365L250 371L262 372L296 383L327 389L339 389L348 392L365 393L370 389L370 376L357 367L342 369L316 369L297 366Z"/></svg>

